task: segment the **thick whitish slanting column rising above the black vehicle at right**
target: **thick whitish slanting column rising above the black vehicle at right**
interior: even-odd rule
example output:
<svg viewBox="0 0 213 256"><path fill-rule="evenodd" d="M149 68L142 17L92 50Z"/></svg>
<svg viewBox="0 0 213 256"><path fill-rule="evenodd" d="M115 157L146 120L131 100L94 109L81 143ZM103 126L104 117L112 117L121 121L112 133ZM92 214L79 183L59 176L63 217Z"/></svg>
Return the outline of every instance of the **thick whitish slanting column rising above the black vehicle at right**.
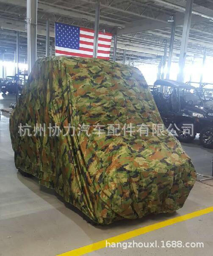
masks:
<svg viewBox="0 0 213 256"><path fill-rule="evenodd" d="M183 82L184 78L184 68L185 68L185 58L188 48L188 37L191 26L191 16L192 16L192 6L194 0L187 0L185 6L185 17L183 24L183 34L181 40L181 48L180 48L180 57L179 57L179 74L177 76L177 80L179 82Z"/></svg>

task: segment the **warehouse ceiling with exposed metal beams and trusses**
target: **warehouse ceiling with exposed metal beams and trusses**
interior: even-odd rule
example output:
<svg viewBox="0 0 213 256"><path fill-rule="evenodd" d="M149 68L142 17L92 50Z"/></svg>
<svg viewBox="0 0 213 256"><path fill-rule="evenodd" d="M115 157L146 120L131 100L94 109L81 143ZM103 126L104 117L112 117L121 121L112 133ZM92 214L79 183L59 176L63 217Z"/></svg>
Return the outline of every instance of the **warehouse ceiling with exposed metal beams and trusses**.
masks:
<svg viewBox="0 0 213 256"><path fill-rule="evenodd" d="M5 53L6 60L14 59L15 31L20 31L21 62L27 59L26 2L0 0L0 53ZM122 61L126 49L127 61L131 57L132 62L156 63L166 42L169 44L171 16L177 23L173 61L178 61L185 0L101 0L100 3L100 30L118 34L117 61ZM45 56L47 19L54 53L54 22L94 28L95 6L95 0L38 0L38 57ZM202 57L205 49L207 56L213 56L213 0L194 0L188 61Z"/></svg>

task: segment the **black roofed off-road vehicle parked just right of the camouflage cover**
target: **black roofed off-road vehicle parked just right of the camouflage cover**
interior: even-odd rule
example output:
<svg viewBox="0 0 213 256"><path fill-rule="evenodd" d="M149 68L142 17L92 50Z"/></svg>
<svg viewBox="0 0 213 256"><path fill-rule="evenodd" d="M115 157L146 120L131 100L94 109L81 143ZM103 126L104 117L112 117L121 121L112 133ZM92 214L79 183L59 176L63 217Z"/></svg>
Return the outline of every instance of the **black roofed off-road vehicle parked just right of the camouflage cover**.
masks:
<svg viewBox="0 0 213 256"><path fill-rule="evenodd" d="M163 79L157 80L151 91L163 123L176 130L181 142L191 142L199 133L202 145L213 148L213 115L203 107L195 87ZM185 127L191 127L191 132Z"/></svg>

